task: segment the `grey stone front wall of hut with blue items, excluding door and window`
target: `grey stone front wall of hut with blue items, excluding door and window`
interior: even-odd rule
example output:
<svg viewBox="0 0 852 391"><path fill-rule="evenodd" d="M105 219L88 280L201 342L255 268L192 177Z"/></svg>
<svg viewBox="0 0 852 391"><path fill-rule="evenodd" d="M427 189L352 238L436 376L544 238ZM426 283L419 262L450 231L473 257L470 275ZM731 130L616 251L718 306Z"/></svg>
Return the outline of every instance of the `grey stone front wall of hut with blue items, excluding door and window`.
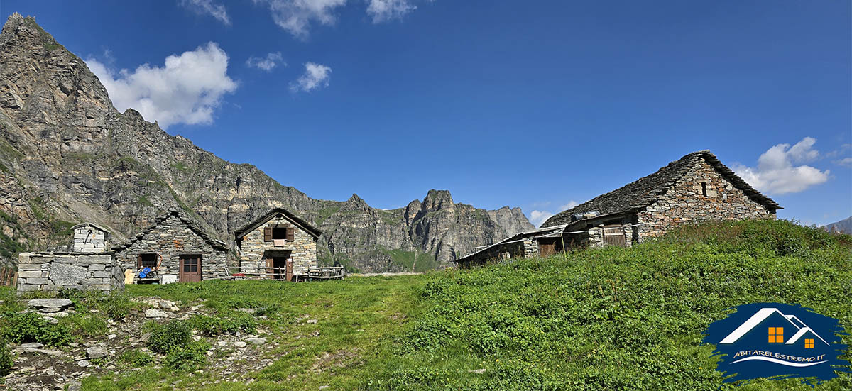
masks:
<svg viewBox="0 0 852 391"><path fill-rule="evenodd" d="M175 215L168 216L129 247L116 251L116 258L119 265L136 272L139 269L137 256L151 253L163 257L159 276L179 276L181 255L201 256L201 279L231 275L227 270L227 250L214 248ZM134 279L139 279L139 273L135 273Z"/></svg>

